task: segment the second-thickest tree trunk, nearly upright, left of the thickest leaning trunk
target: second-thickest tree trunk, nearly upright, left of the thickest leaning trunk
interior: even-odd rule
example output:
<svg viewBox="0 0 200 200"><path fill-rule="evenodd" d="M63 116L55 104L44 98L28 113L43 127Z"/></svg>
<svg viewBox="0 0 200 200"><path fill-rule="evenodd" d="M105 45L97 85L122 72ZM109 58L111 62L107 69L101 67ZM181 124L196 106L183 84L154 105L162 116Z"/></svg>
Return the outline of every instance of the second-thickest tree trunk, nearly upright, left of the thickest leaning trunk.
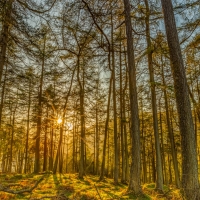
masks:
<svg viewBox="0 0 200 200"><path fill-rule="evenodd" d="M127 35L127 53L129 67L129 93L131 107L131 139L132 139L132 163L130 170L129 190L138 194L141 192L140 185L140 127L138 114L137 86L136 86L136 67L134 60L131 9L129 0L124 0L125 24Z"/></svg>

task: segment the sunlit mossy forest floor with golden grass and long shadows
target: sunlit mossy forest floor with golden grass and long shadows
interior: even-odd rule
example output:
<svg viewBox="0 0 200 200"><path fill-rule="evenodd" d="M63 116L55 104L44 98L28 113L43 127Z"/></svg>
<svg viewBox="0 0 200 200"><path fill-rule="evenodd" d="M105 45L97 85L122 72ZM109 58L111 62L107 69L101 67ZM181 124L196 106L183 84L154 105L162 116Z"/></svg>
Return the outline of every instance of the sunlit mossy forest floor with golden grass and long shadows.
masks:
<svg viewBox="0 0 200 200"><path fill-rule="evenodd" d="M159 194L154 187L154 184L143 185L144 194L136 197L126 192L127 185L114 185L108 178L99 182L98 176L79 179L77 174L0 174L0 200L182 199L177 189L165 186L164 194Z"/></svg>

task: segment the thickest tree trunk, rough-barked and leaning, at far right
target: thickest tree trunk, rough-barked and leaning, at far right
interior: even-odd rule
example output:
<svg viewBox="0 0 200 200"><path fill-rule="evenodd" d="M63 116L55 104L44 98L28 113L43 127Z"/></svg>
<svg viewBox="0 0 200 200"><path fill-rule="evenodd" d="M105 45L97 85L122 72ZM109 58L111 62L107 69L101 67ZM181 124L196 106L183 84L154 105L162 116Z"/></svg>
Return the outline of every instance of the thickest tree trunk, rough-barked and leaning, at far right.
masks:
<svg viewBox="0 0 200 200"><path fill-rule="evenodd" d="M171 0L161 0L174 78L176 104L182 143L182 187L186 199L199 199L195 132L183 58Z"/></svg>

